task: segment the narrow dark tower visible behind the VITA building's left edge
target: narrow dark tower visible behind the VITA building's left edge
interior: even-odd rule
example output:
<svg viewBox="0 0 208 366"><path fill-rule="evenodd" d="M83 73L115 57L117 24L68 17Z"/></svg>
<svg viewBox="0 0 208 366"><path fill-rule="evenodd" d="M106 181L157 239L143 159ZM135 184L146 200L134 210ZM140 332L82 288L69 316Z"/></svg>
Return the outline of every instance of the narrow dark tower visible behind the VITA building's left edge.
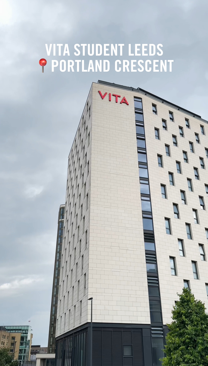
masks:
<svg viewBox="0 0 208 366"><path fill-rule="evenodd" d="M61 205L58 211L58 231L56 239L56 254L55 254L52 299L50 308L48 353L55 353L56 317L57 317L58 288L59 288L60 265L61 265L61 250L62 250L63 229L64 229L64 210L65 205Z"/></svg>

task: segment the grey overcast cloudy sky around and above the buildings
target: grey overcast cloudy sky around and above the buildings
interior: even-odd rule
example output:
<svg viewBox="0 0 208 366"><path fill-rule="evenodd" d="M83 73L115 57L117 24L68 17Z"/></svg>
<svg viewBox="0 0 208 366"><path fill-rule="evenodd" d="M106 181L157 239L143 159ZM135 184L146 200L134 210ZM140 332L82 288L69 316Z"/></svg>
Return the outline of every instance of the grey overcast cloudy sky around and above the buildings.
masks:
<svg viewBox="0 0 208 366"><path fill-rule="evenodd" d="M208 119L207 13L207 0L0 0L0 325L31 325L33 344L48 345L58 208L92 82ZM52 73L51 59L75 57L48 57L45 43L161 43L173 71Z"/></svg>

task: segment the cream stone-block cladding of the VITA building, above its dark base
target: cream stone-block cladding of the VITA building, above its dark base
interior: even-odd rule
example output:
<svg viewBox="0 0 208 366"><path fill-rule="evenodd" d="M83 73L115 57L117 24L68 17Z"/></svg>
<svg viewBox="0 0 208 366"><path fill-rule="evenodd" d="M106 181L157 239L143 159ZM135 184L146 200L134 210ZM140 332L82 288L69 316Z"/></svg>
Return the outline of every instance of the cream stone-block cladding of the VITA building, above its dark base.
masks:
<svg viewBox="0 0 208 366"><path fill-rule="evenodd" d="M103 99L99 90L102 96L107 93ZM113 94L121 96L117 103ZM124 96L129 105L120 104ZM142 98L143 103L163 324L171 322L171 310L184 280L208 307L208 265L207 260L201 260L198 246L203 244L207 253L207 122L141 90L92 83L69 154L57 337L90 322L91 296L95 323L151 323L134 97ZM157 115L152 112L152 104ZM163 130L162 119L167 121L167 131ZM184 137L179 135L179 126ZM159 140L155 139L154 128L159 129ZM200 144L194 133L199 135ZM177 136L178 147L173 146L172 135ZM189 141L194 153L190 152ZM170 157L166 156L165 145L170 146ZM158 154L163 168L158 166ZM201 169L199 157L204 159L205 169ZM176 161L181 163L182 174L177 173ZM193 167L198 168L200 180L195 179ZM174 186L169 183L169 172L174 175ZM187 178L192 179L193 192L188 190ZM167 199L161 196L160 184L166 186ZM180 190L185 191L186 205L182 204ZM199 195L204 197L205 210L201 210ZM178 205L179 219L174 218L173 203ZM197 210L199 224L194 224L192 209ZM171 235L166 234L165 217L170 219ZM191 225L193 240L187 238L185 223ZM179 254L178 239L184 242L184 257ZM169 257L175 258L176 276L171 275ZM192 261L197 262L198 280L193 277Z"/></svg>

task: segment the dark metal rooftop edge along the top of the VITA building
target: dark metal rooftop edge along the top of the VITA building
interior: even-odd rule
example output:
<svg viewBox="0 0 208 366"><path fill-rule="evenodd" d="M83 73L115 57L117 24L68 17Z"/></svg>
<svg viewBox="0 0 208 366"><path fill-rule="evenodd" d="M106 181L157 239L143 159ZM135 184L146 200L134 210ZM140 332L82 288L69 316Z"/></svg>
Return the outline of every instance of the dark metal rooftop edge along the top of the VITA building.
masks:
<svg viewBox="0 0 208 366"><path fill-rule="evenodd" d="M176 104L173 104L171 102L168 102L167 100L165 100L163 98L160 98L160 97L156 96L155 94L149 93L149 91L146 91L144 89L141 89L140 87L138 87L137 89L135 89L132 86L124 86L124 85L119 85L119 84L115 84L115 83L109 83L107 81L102 81L102 80L98 80L98 84L113 86L113 87L118 88L118 89L125 89L125 90L129 90L129 91L134 91L136 93L144 94L147 97L150 97L152 99L155 99L156 101L161 102L161 103L163 103L165 105L168 105L168 106L170 106L170 107L172 107L174 109L177 109L180 112L186 113L187 115L189 115L191 117L194 117L196 119L199 119L200 121L203 121L205 123L208 123L207 120L201 118L201 116L197 115L196 113L190 112L190 111L188 111L185 108L181 108L181 107L179 107Z"/></svg>

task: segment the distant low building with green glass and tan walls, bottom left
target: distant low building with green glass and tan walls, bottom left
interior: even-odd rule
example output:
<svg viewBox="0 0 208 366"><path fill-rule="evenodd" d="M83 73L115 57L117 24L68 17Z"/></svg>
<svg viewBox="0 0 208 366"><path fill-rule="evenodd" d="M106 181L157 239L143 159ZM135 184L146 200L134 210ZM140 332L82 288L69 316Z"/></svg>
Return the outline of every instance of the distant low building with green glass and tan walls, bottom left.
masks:
<svg viewBox="0 0 208 366"><path fill-rule="evenodd" d="M19 360L19 365L22 365L25 361L30 359L30 349L32 344L33 334L31 333L30 325L4 325L4 328L10 334L11 344L9 345L10 352L16 355L16 349L19 347L19 354L16 357ZM13 333L20 333L19 337Z"/></svg>

